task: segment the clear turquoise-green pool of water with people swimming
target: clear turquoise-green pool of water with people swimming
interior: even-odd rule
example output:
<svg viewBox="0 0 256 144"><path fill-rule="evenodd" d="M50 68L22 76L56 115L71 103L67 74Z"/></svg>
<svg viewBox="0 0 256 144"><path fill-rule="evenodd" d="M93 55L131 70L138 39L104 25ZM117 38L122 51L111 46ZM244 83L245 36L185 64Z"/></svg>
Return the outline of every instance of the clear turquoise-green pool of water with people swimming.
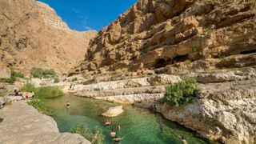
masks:
<svg viewBox="0 0 256 144"><path fill-rule="evenodd" d="M70 109L64 107L66 101L70 102ZM160 114L151 114L148 110L138 107L123 106L124 113L116 118L110 118L111 126L106 127L104 126L106 117L102 117L101 114L118 104L72 95L50 99L48 103L54 110L53 118L61 132L67 132L79 123L84 123L91 130L98 126L105 135L104 143L106 144L113 143L110 139L112 128L117 131L118 137L125 137L120 142L122 144L182 144L178 138L179 135L183 135L189 144L206 143L190 130L166 120ZM117 130L118 124L122 127L120 131Z"/></svg>

